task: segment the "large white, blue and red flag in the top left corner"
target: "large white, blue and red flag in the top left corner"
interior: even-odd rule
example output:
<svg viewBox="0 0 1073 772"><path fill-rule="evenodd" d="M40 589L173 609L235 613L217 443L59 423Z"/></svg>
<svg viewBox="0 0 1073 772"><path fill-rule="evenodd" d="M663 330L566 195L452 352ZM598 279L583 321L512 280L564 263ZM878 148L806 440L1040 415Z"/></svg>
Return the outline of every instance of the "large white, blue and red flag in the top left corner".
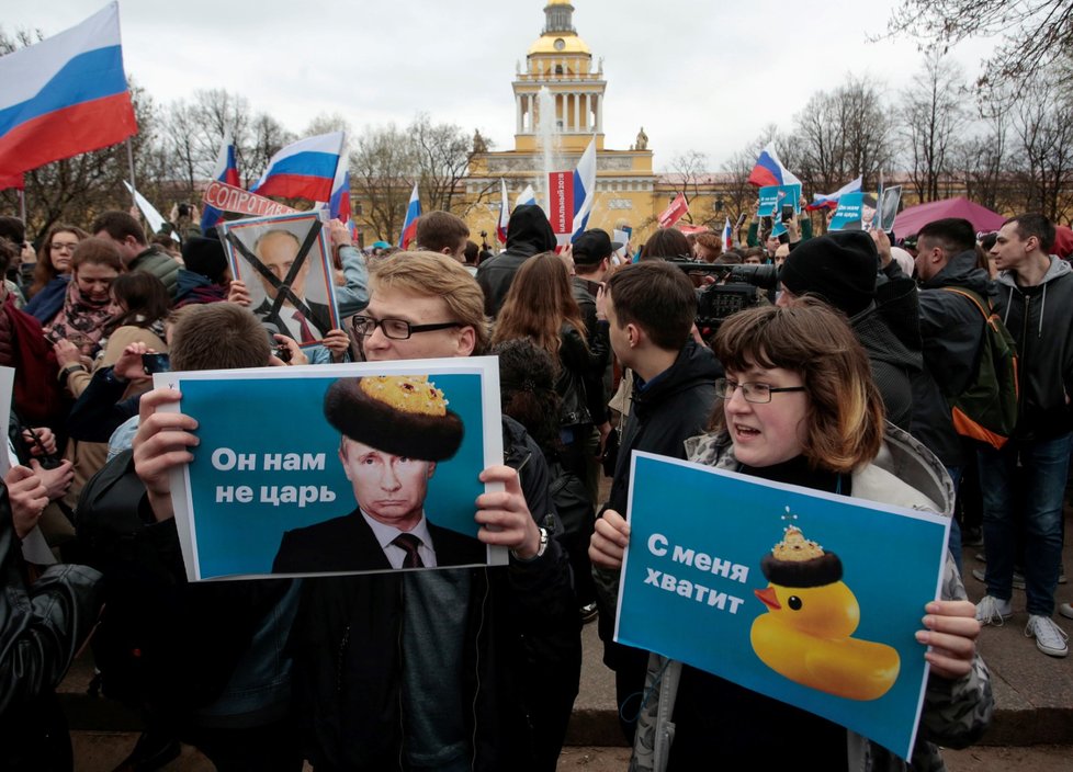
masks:
<svg viewBox="0 0 1073 772"><path fill-rule="evenodd" d="M117 3L0 57L0 175L99 150L137 133Z"/></svg>

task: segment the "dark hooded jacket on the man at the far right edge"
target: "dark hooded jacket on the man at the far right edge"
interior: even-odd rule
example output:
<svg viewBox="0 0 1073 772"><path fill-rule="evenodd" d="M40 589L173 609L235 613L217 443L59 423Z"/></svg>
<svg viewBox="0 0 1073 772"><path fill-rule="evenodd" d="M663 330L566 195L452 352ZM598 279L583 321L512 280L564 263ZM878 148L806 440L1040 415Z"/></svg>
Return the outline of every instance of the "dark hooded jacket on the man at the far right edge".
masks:
<svg viewBox="0 0 1073 772"><path fill-rule="evenodd" d="M996 308L1017 341L1020 398L1016 440L1039 442L1073 429L1066 395L1073 394L1073 269L1051 258L1043 280L1021 287L998 274Z"/></svg>

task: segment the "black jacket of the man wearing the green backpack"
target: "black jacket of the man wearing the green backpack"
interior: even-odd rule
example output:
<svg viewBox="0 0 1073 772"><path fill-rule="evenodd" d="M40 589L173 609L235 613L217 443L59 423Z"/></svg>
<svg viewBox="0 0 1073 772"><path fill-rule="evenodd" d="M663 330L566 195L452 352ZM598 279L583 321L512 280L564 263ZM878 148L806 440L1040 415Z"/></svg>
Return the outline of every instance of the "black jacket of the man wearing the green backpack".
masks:
<svg viewBox="0 0 1073 772"><path fill-rule="evenodd" d="M984 302L994 300L995 287L987 272L976 268L974 250L953 256L920 285L925 377L913 381L910 433L945 466L963 466L968 456L953 429L949 400L964 391L976 374L985 320L972 300L944 287L970 290Z"/></svg>

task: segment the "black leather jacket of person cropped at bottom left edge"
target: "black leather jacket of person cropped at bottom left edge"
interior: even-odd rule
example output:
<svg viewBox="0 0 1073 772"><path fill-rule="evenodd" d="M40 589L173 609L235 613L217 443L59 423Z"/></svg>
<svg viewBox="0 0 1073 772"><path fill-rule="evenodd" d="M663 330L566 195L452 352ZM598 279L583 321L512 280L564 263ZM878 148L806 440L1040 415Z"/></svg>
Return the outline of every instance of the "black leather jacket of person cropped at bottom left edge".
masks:
<svg viewBox="0 0 1073 772"><path fill-rule="evenodd" d="M101 575L84 566L53 566L29 580L0 492L0 769L59 768L70 742L55 689L97 622Z"/></svg>

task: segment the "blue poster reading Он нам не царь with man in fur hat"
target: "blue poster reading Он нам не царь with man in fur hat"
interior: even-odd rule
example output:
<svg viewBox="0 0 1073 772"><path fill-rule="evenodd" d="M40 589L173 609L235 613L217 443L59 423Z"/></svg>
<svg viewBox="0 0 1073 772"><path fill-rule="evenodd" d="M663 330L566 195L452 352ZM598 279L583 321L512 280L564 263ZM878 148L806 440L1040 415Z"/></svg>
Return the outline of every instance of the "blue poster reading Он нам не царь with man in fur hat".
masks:
<svg viewBox="0 0 1073 772"><path fill-rule="evenodd" d="M197 421L194 459L171 483L191 581L507 561L474 521L478 475L504 458L495 357L155 384Z"/></svg>

